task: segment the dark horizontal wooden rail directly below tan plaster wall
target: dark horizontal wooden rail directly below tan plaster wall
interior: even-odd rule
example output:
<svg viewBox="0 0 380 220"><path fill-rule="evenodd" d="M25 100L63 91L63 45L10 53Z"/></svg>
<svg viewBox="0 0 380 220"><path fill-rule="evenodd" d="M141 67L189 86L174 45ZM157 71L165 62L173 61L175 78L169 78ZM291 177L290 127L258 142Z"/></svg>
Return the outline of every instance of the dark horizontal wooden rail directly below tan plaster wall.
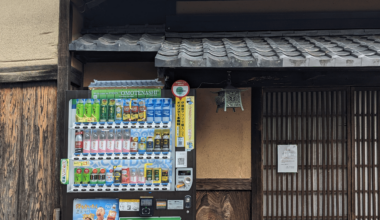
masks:
<svg viewBox="0 0 380 220"><path fill-rule="evenodd" d="M251 190L251 179L197 179L197 190Z"/></svg>

